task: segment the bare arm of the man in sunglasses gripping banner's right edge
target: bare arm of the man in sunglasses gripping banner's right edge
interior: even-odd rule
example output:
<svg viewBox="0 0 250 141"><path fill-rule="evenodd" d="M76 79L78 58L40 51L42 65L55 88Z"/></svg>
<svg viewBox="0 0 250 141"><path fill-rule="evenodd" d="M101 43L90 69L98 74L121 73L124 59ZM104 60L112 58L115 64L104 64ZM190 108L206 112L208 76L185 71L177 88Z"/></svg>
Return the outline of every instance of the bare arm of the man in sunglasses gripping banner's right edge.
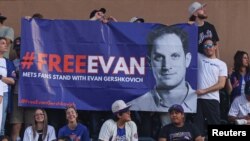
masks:
<svg viewBox="0 0 250 141"><path fill-rule="evenodd" d="M206 88L206 89L197 90L196 93L198 95L203 95L203 94L207 94L207 93L210 93L210 92L218 91L218 90L224 88L225 83L226 83L226 77L225 76L219 76L219 80L218 80L218 82L216 84L214 84L213 86L211 86L209 88Z"/></svg>

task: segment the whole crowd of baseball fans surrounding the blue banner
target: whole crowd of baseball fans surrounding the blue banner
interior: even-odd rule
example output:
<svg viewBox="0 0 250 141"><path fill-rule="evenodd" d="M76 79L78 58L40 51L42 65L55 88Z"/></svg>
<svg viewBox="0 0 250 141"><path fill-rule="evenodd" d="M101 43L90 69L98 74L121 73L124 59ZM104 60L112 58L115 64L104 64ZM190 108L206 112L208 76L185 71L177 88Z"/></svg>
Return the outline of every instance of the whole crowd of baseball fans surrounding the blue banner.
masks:
<svg viewBox="0 0 250 141"><path fill-rule="evenodd" d="M164 124L161 122L163 121L161 113L130 112L131 105L123 100L117 100L112 104L112 113L77 111L74 106L67 107L65 112L19 107L21 38L17 37L14 40L14 30L4 25L7 18L0 14L1 141L89 141L91 139L137 141L142 136L160 141L183 139L201 141L207 139L206 125L222 124L222 121L226 121L226 124L250 124L249 55L245 51L237 51L234 56L234 67L227 70L226 64L219 59L219 36L214 25L206 21L205 7L206 4L194 2L188 8L190 14L188 23L198 26L198 86L195 91L198 97L197 112L186 114L183 107L185 105L174 104L164 117L169 119ZM112 16L106 17L105 13L105 8L93 10L89 20L101 21L104 24L117 22ZM43 16L36 13L26 18L43 18ZM145 20L133 17L130 22L144 23ZM12 45L14 56L10 53ZM13 88L12 91L10 87ZM226 93L223 96L230 98L221 99L222 90ZM228 105L222 104L224 101L221 100L229 101L229 99ZM9 101L12 102L8 103ZM8 112L8 104L12 107L11 112ZM221 113L221 108L224 107L229 107L228 111ZM222 114L228 117L223 119ZM6 117L10 118L6 120ZM189 134L179 134L184 132Z"/></svg>

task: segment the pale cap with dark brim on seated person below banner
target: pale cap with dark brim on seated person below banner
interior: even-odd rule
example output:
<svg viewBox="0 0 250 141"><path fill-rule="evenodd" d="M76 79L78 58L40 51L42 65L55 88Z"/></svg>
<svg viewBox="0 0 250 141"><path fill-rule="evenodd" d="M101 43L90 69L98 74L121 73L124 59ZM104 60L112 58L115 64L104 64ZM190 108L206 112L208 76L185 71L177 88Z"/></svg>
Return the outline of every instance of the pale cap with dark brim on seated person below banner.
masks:
<svg viewBox="0 0 250 141"><path fill-rule="evenodd" d="M128 111L131 105L127 105L123 100L116 100L112 104L112 112L114 114Z"/></svg>

